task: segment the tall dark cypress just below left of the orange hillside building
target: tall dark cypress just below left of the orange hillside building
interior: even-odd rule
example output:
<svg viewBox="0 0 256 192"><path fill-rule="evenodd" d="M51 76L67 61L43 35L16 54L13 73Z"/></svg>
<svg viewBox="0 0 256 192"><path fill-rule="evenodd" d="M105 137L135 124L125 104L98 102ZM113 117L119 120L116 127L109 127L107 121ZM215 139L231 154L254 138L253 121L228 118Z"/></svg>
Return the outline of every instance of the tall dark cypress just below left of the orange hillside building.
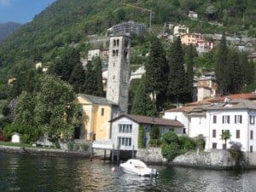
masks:
<svg viewBox="0 0 256 192"><path fill-rule="evenodd" d="M179 37L173 42L169 50L168 60L170 72L167 94L172 102L183 102L188 92L188 79L185 73L183 48Z"/></svg>

